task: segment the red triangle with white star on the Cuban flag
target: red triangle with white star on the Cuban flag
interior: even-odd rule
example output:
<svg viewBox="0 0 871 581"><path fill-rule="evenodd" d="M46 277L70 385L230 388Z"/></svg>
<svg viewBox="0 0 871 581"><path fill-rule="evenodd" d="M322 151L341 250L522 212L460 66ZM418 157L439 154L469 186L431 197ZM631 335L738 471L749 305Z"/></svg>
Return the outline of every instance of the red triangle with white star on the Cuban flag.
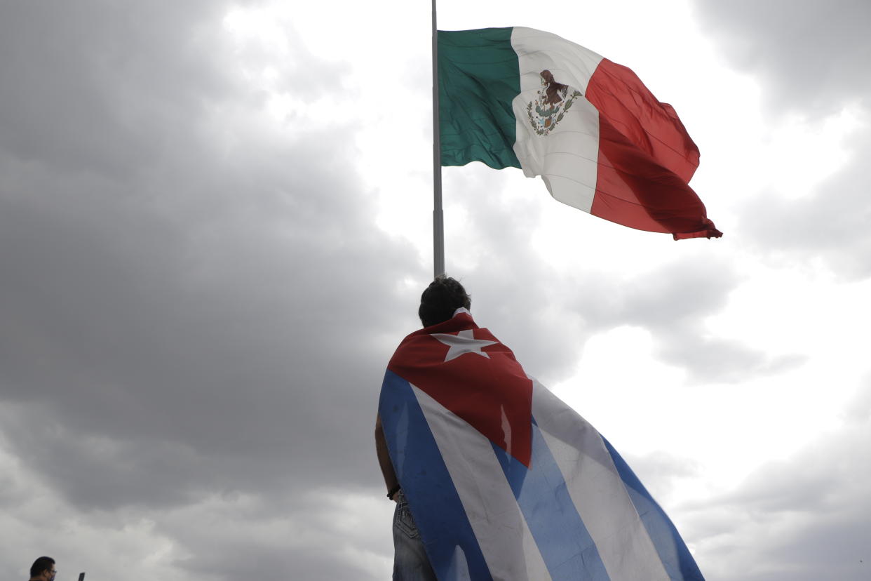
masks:
<svg viewBox="0 0 871 581"><path fill-rule="evenodd" d="M409 334L388 369L530 466L532 381L469 311Z"/></svg>

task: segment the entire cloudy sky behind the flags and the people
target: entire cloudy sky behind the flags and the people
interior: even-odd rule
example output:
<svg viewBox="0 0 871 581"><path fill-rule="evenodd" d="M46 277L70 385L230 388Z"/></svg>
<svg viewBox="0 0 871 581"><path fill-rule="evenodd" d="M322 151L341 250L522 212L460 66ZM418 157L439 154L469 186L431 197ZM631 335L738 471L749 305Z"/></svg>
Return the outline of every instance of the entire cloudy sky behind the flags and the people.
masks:
<svg viewBox="0 0 871 581"><path fill-rule="evenodd" d="M384 579L432 274L429 5L0 0L0 577ZM442 0L636 71L725 236L446 168L476 320L719 581L871 578L871 5Z"/></svg>

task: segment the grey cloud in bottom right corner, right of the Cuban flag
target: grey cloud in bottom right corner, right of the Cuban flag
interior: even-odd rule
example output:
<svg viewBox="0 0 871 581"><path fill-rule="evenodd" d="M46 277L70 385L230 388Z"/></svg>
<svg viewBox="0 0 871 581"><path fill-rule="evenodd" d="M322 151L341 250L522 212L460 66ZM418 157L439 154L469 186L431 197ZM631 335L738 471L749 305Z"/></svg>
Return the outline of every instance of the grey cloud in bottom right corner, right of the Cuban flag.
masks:
<svg viewBox="0 0 871 581"><path fill-rule="evenodd" d="M697 557L708 562L709 574L753 581L868 578L869 395L865 382L842 429L787 460L766 463L737 490L712 499L719 514L692 518L702 539ZM750 566L735 571L736 562Z"/></svg>

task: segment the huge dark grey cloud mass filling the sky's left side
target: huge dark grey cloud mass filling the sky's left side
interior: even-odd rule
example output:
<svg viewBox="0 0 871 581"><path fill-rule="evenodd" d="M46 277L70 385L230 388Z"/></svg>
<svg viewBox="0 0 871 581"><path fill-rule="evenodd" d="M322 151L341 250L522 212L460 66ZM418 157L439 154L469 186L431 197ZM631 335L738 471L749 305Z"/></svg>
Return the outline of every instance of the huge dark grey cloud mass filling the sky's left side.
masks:
<svg viewBox="0 0 871 581"><path fill-rule="evenodd" d="M395 280L422 273L372 226L353 126L264 122L227 8L3 3L2 430L85 515L379 486L378 385L414 323ZM290 50L289 94L347 68Z"/></svg>

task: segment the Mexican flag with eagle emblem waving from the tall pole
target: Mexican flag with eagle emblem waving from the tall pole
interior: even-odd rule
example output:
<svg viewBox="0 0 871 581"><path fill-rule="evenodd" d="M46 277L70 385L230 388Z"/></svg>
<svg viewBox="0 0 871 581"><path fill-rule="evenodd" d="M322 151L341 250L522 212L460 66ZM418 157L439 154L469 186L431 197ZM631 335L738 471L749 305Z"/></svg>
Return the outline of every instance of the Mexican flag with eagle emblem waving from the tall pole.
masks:
<svg viewBox="0 0 871 581"><path fill-rule="evenodd" d="M722 235L688 186L699 148L625 66L541 30L439 30L438 82L442 166L519 167L605 220Z"/></svg>

